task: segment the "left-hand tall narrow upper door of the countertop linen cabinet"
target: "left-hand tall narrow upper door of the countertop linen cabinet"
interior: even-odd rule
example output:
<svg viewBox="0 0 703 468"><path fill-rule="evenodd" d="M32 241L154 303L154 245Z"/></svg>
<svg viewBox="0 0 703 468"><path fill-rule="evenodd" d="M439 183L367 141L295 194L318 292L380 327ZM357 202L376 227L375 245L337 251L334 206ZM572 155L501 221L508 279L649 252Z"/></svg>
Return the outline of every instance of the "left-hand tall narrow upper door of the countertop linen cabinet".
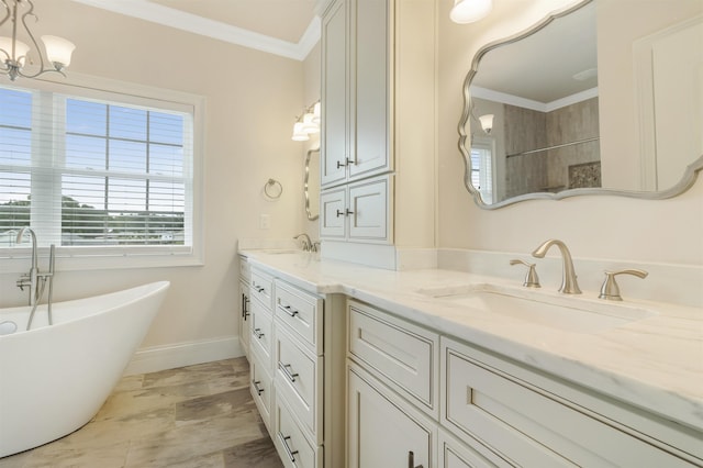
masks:
<svg viewBox="0 0 703 468"><path fill-rule="evenodd" d="M321 183L346 177L348 151L348 68L346 1L338 0L322 23L322 141Z"/></svg>

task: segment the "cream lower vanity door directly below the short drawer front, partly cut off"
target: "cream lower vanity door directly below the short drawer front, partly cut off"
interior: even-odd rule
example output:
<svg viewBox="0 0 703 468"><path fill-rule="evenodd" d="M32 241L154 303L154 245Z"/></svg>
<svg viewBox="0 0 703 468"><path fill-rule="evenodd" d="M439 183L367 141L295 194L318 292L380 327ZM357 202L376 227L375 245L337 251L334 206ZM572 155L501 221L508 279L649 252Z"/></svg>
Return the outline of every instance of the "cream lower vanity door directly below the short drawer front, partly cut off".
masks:
<svg viewBox="0 0 703 468"><path fill-rule="evenodd" d="M356 366L349 367L347 411L348 468L436 465L432 420Z"/></svg>

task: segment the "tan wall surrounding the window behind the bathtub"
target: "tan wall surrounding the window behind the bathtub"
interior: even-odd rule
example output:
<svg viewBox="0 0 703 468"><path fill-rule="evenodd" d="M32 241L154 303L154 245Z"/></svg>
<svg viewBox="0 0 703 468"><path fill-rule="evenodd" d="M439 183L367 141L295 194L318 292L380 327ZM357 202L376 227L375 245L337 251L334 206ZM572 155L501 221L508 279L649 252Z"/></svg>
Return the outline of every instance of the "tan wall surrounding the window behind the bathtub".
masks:
<svg viewBox="0 0 703 468"><path fill-rule="evenodd" d="M237 238L290 237L303 229L301 146L290 140L303 105L303 64L67 0L37 0L38 34L70 38L69 71L204 96L202 267L58 271L55 298L79 298L153 280L171 289L143 346L237 333ZM261 189L281 181L280 200ZM271 227L258 229L259 214ZM15 274L0 275L0 305L23 303ZM9 285L9 286L8 286Z"/></svg>

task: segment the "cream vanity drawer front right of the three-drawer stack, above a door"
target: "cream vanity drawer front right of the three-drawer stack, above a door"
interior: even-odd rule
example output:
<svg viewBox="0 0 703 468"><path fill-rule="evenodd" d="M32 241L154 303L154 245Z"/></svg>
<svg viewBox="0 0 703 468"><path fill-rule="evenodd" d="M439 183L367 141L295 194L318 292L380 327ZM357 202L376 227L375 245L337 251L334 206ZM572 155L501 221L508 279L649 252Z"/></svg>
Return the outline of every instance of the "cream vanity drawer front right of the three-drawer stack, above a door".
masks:
<svg viewBox="0 0 703 468"><path fill-rule="evenodd" d="M438 335L356 301L347 310L349 356L436 417Z"/></svg>

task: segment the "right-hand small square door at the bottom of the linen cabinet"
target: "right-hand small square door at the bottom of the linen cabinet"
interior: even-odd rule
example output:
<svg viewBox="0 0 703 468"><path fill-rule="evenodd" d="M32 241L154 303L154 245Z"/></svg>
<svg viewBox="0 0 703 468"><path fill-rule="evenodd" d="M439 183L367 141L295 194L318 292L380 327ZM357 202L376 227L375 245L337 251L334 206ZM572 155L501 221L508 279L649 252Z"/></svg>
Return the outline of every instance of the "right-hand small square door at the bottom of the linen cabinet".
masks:
<svg viewBox="0 0 703 468"><path fill-rule="evenodd" d="M390 242L390 177L349 185L349 239Z"/></svg>

